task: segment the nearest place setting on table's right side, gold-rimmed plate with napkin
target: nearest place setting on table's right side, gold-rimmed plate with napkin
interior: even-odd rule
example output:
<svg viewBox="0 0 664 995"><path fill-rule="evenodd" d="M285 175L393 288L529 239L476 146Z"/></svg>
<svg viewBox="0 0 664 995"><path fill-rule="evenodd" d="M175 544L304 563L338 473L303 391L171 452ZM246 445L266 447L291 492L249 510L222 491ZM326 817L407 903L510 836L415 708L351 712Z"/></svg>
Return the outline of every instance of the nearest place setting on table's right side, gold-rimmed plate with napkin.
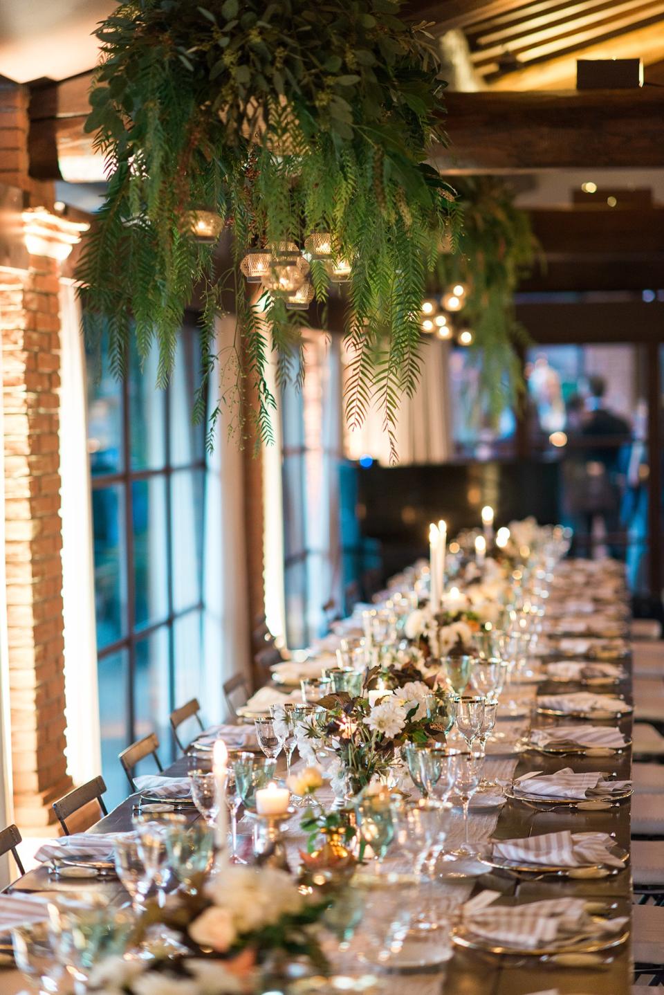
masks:
<svg viewBox="0 0 664 995"><path fill-rule="evenodd" d="M544 898L521 905L494 904L496 892L482 892L461 909L452 941L496 954L536 957L594 953L623 943L628 915L608 915L602 902Z"/></svg>

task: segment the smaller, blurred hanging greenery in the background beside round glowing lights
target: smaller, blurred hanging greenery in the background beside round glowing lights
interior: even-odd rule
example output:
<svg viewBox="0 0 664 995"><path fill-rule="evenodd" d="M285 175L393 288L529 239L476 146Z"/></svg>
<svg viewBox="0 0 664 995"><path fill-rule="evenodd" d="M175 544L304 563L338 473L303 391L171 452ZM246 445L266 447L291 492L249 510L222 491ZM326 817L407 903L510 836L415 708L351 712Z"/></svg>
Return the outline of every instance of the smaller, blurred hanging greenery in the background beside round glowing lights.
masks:
<svg viewBox="0 0 664 995"><path fill-rule="evenodd" d="M454 184L463 223L457 251L438 257L435 283L466 288L464 307L454 320L472 331L481 371L482 400L499 414L523 389L517 349L528 335L514 310L519 281L538 255L530 217L514 204L513 190L493 176L459 177Z"/></svg>

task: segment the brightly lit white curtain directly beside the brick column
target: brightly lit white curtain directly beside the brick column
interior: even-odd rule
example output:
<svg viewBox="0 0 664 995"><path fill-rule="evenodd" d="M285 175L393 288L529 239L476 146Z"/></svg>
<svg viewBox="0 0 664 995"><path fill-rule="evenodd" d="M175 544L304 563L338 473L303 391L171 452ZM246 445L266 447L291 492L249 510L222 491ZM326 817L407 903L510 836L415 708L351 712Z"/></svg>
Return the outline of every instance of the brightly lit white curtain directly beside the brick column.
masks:
<svg viewBox="0 0 664 995"><path fill-rule="evenodd" d="M81 308L72 281L61 280L60 477L68 770L76 784L99 773L94 566L85 356Z"/></svg>

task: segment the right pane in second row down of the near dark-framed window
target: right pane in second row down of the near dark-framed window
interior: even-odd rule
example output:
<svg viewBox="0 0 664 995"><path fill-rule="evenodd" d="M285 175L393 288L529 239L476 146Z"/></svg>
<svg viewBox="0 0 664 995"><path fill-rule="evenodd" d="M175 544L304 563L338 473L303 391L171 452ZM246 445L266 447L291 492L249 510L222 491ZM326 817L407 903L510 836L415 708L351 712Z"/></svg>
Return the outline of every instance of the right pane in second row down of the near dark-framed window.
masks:
<svg viewBox="0 0 664 995"><path fill-rule="evenodd" d="M201 601L205 471L180 470L171 478L173 610Z"/></svg>

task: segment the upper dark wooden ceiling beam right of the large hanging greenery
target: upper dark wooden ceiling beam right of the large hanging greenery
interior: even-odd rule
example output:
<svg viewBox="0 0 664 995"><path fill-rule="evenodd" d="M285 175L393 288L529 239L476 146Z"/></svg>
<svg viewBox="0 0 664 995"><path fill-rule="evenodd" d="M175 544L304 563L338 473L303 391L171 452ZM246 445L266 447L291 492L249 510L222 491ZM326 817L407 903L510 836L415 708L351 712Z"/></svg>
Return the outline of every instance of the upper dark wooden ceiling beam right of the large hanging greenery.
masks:
<svg viewBox="0 0 664 995"><path fill-rule="evenodd" d="M431 155L443 173L664 167L664 94L447 94L448 149Z"/></svg>

